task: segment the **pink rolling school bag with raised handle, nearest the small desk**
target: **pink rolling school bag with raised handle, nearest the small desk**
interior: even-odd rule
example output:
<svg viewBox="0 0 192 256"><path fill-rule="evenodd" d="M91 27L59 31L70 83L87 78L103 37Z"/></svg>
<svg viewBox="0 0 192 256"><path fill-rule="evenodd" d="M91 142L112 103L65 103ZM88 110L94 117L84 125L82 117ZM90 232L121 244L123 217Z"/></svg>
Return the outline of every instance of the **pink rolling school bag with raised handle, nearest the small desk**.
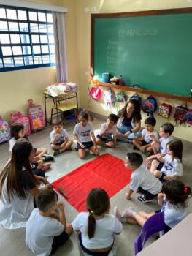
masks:
<svg viewBox="0 0 192 256"><path fill-rule="evenodd" d="M28 119L30 121L31 132L45 127L45 118L40 105L34 105L33 99L28 99Z"/></svg>

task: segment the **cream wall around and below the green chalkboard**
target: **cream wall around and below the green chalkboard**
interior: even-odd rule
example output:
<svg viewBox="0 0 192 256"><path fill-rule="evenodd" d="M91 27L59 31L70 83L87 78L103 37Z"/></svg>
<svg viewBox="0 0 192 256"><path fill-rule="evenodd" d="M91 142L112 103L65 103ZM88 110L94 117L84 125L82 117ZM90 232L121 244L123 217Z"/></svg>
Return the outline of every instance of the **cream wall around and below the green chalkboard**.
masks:
<svg viewBox="0 0 192 256"><path fill-rule="evenodd" d="M85 12L85 8L88 7L88 12ZM188 3L187 0L77 0L76 1L76 12L77 12L77 54L78 54L78 69L80 73L80 107L88 108L93 113L99 113L107 116L110 112L115 113L114 108L107 108L104 103L96 102L92 99L88 99L88 80L90 78L90 42L91 42L91 11L92 7L96 7L99 13L110 13L110 12L134 12L142 10L159 10L159 9L172 9L172 8L183 8L192 7L192 3ZM191 82L192 84L192 82ZM103 88L104 89L104 88ZM105 88L106 89L106 88ZM133 93L128 92L128 96ZM147 95L141 94L142 98ZM171 99L158 98L158 103L164 102L171 103L174 106L183 104L183 102L176 102ZM191 104L188 107L192 108ZM119 106L120 108L120 106ZM143 120L145 114L142 114L142 126L144 126ZM166 122L166 118L161 118L155 115L157 118L157 129L160 125ZM170 118L169 121L173 121ZM192 142L192 127L176 127L174 129L174 136L182 138Z"/></svg>

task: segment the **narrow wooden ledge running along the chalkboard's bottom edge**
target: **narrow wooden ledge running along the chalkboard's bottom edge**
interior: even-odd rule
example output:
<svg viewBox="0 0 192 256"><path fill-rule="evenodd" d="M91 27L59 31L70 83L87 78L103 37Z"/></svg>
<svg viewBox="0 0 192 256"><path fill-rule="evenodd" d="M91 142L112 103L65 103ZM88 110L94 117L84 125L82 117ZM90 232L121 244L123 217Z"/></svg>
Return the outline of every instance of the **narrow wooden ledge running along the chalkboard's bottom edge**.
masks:
<svg viewBox="0 0 192 256"><path fill-rule="evenodd" d="M123 91L134 91L134 92L138 92L140 94L149 94L149 95L153 95L153 96L157 96L157 97L176 99L176 100L180 100L183 102L192 102L192 98L190 98L190 97L180 96L180 95L175 95L175 94L166 94L161 91L150 91L147 89L137 89L137 88L134 88L131 86L118 86L118 85L114 85L112 83L103 83L100 81L99 81L99 86L106 86L106 87L110 87L110 88L114 88L114 89L120 89Z"/></svg>

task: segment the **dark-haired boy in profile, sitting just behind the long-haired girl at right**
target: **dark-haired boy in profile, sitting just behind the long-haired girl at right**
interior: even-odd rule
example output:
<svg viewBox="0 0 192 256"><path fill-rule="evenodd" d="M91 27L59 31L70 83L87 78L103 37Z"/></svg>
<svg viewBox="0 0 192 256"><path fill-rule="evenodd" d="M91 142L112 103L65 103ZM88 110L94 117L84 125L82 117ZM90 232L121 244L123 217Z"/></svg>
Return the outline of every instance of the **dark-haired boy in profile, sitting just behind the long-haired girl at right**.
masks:
<svg viewBox="0 0 192 256"><path fill-rule="evenodd" d="M159 135L161 138L159 140L155 138L155 136L152 136L153 142L151 143L151 146L153 148L153 152L155 155L147 157L146 159L147 167L150 168L150 165L153 159L157 159L157 161L155 161L155 170L161 170L164 164L159 162L158 158L164 157L166 155L166 143L173 140L171 136L173 131L174 131L174 126L172 125L172 123L168 122L161 125L159 129Z"/></svg>

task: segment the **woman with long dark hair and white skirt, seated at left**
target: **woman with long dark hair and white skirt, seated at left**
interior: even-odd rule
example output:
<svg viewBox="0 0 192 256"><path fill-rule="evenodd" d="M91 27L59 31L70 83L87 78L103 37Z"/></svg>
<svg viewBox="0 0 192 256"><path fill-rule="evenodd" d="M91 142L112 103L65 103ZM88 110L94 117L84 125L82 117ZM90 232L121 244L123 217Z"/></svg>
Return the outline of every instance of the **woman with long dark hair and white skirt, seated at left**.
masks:
<svg viewBox="0 0 192 256"><path fill-rule="evenodd" d="M42 189L50 189L48 181L34 176L31 162L34 149L28 141L18 141L12 148L12 159L0 173L0 223L7 229L26 227L26 221L33 211L34 197Z"/></svg>

